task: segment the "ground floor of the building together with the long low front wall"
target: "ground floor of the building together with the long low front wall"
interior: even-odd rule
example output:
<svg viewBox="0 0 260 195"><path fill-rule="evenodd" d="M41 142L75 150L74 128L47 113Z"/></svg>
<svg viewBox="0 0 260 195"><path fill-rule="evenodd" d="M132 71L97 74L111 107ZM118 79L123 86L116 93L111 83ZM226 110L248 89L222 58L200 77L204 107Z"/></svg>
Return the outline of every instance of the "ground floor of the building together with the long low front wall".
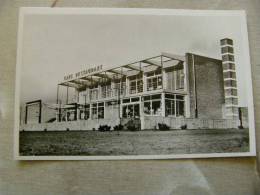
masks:
<svg viewBox="0 0 260 195"><path fill-rule="evenodd" d="M36 122L21 123L20 130L93 130L109 126L111 130L118 125L133 123L137 129L232 129L243 125L247 120L239 118L190 118L189 97L187 94L157 92L142 95L124 96L118 99L104 99L85 103L60 105L53 109L56 116L47 122L37 122L41 110L27 109L26 116L34 111ZM42 113L41 115L45 115ZM241 125L242 124L242 125ZM127 129L127 128L125 128Z"/></svg>

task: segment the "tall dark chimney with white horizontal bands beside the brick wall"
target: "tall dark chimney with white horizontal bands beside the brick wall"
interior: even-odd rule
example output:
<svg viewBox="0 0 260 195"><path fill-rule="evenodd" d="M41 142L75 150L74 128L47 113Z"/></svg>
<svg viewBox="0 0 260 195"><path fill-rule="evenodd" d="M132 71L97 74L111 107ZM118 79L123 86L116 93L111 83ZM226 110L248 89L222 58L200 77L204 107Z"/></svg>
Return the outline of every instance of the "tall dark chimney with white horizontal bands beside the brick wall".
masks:
<svg viewBox="0 0 260 195"><path fill-rule="evenodd" d="M225 94L225 118L238 118L238 97L233 40L220 40Z"/></svg>

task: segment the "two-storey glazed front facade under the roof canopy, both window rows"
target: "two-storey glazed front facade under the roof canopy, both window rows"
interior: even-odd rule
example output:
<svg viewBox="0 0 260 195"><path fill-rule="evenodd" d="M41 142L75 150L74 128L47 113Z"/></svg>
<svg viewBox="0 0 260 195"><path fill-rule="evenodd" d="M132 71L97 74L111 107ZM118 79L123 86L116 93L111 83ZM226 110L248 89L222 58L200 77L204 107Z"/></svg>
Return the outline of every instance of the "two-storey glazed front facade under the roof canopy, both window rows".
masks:
<svg viewBox="0 0 260 195"><path fill-rule="evenodd" d="M170 94L185 90L183 65L165 69L159 65L153 66L138 71L136 75L131 73L128 76L122 70L116 78L109 74L109 80L94 78L90 86L79 91L78 119L104 119L112 115L122 118L184 116L184 95ZM163 93L169 93L165 94L165 99ZM72 112L69 115L68 118L74 117Z"/></svg>

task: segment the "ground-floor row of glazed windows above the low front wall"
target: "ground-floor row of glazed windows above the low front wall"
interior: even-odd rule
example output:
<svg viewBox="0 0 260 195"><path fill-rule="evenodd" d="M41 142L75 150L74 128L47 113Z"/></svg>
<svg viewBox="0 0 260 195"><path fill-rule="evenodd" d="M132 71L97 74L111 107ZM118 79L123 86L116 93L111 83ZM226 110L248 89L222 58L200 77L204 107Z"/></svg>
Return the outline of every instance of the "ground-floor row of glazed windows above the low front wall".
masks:
<svg viewBox="0 0 260 195"><path fill-rule="evenodd" d="M57 112L57 121L111 118L141 118L144 116L187 117L185 94L155 93L68 104Z"/></svg>

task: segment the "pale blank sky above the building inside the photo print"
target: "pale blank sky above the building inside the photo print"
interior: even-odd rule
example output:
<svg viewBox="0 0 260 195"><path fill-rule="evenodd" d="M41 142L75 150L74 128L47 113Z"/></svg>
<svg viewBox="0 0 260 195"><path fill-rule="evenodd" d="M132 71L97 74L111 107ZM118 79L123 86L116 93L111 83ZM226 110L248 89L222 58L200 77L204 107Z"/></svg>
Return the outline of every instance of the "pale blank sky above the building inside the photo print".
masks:
<svg viewBox="0 0 260 195"><path fill-rule="evenodd" d="M26 14L20 102L55 103L65 75L160 55L195 53L221 59L220 39L234 40L239 105L247 106L248 59L239 16Z"/></svg>

